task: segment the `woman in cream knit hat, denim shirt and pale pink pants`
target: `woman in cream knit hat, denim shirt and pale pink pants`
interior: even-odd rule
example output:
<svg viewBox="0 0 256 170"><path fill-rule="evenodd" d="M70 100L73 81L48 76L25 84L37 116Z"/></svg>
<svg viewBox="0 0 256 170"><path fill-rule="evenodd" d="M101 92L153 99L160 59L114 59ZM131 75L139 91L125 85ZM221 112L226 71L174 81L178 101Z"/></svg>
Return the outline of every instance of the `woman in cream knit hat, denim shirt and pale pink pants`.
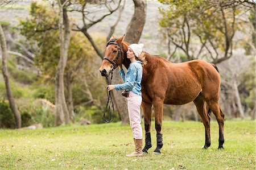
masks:
<svg viewBox="0 0 256 170"><path fill-rule="evenodd" d="M130 59L128 71L125 74L122 65L119 66L119 74L123 79L123 84L108 85L110 90L129 91L127 97L127 106L129 113L130 127L133 130L135 151L126 156L142 156L142 127L141 127L141 80L142 80L142 62L139 58L143 57L142 48L144 44L131 44L128 46L127 58Z"/></svg>

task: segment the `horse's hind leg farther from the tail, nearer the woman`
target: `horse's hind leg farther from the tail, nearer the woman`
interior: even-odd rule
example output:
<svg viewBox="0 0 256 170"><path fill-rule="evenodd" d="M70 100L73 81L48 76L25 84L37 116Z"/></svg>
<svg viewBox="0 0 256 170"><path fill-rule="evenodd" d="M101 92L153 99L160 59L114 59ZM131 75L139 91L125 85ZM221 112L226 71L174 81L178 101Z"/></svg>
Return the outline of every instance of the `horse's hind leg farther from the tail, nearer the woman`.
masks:
<svg viewBox="0 0 256 170"><path fill-rule="evenodd" d="M196 105L196 109L204 123L205 128L205 144L203 149L207 149L210 146L210 117L207 114L207 110L204 107L204 101L201 94L193 101Z"/></svg>

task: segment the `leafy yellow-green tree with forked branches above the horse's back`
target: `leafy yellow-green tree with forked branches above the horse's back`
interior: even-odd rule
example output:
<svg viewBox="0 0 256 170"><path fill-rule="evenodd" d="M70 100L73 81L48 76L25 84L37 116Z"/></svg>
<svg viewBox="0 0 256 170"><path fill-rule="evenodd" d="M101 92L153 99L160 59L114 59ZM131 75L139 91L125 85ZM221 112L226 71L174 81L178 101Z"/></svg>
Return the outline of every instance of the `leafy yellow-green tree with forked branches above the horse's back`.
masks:
<svg viewBox="0 0 256 170"><path fill-rule="evenodd" d="M249 7L228 1L160 0L170 5L160 9L160 26L168 40L170 58L176 49L185 53L187 60L207 58L216 64L229 59L233 52L233 38L238 29L237 18ZM240 2L240 1L239 1ZM197 43L198 42L198 43ZM174 47L173 52L170 45Z"/></svg>

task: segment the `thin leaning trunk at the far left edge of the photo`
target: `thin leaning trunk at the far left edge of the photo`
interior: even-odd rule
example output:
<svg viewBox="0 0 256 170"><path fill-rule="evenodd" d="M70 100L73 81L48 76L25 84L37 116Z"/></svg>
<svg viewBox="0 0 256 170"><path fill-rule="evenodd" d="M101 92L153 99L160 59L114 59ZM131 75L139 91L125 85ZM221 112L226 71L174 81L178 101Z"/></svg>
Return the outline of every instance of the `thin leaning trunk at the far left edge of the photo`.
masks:
<svg viewBox="0 0 256 170"><path fill-rule="evenodd" d="M5 88L7 92L7 97L9 99L11 110L14 113L16 128L20 128L21 117L20 117L19 110L15 105L13 93L11 93L11 87L9 84L9 74L7 69L7 47L6 47L5 34L3 34L3 29L1 24L0 24L0 43L1 43L1 49L2 49L2 73L3 73L3 78L5 79Z"/></svg>

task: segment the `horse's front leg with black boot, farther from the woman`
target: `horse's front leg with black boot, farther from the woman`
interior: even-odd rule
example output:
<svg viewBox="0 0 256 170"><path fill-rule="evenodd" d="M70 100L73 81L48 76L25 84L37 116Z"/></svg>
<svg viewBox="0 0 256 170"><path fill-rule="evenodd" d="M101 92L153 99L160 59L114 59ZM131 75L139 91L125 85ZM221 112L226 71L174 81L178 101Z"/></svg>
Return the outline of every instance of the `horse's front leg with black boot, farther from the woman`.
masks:
<svg viewBox="0 0 256 170"><path fill-rule="evenodd" d="M153 101L155 112L155 130L156 130L156 149L153 154L160 154L163 147L162 119L163 119L163 100L156 98Z"/></svg>

